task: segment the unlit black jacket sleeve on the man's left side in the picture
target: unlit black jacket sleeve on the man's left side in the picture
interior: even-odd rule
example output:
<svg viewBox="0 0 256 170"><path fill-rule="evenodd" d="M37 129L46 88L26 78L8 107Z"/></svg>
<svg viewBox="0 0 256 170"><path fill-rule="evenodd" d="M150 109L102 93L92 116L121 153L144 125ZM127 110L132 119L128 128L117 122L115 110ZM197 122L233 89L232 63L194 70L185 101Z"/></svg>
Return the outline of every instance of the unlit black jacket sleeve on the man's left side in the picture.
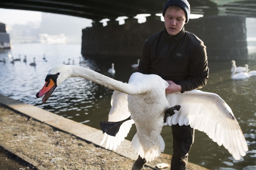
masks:
<svg viewBox="0 0 256 170"><path fill-rule="evenodd" d="M150 55L150 44L146 40L142 46L141 60L139 62L137 72L142 74L151 74L151 55Z"/></svg>

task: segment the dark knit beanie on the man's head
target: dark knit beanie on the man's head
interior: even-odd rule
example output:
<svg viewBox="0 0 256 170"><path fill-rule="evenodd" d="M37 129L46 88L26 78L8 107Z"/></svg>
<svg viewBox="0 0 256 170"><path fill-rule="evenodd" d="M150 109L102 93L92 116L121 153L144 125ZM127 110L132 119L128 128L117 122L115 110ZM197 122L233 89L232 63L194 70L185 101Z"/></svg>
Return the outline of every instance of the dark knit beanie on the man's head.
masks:
<svg viewBox="0 0 256 170"><path fill-rule="evenodd" d="M189 20L189 14L190 14L190 5L189 5L188 1L187 0L168 0L163 7L163 16L165 14L166 9L172 5L181 7L181 9L184 10L184 12L186 14L186 23L187 23Z"/></svg>

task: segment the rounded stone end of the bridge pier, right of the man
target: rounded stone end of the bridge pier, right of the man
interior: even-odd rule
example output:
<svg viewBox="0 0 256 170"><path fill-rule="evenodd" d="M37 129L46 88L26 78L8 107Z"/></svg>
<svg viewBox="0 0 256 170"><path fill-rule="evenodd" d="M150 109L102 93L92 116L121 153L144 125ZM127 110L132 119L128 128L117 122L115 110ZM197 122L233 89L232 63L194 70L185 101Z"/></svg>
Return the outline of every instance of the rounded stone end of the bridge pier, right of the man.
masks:
<svg viewBox="0 0 256 170"><path fill-rule="evenodd" d="M245 17L204 16L185 24L203 40L210 60L246 60L248 58Z"/></svg>

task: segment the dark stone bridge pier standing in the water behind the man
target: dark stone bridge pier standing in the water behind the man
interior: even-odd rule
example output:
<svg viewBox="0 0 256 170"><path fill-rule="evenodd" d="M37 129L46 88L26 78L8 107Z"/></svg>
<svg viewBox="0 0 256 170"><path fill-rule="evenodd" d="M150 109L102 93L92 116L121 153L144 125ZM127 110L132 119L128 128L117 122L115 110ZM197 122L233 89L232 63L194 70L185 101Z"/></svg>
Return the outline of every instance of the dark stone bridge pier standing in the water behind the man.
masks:
<svg viewBox="0 0 256 170"><path fill-rule="evenodd" d="M157 19L158 18L158 19ZM131 20L133 21L133 20ZM164 28L158 16L147 17L144 23L99 24L82 30L84 57L141 57L144 41ZM204 16L190 19L185 30L194 33L206 45L208 60L246 60L248 57L245 17Z"/></svg>

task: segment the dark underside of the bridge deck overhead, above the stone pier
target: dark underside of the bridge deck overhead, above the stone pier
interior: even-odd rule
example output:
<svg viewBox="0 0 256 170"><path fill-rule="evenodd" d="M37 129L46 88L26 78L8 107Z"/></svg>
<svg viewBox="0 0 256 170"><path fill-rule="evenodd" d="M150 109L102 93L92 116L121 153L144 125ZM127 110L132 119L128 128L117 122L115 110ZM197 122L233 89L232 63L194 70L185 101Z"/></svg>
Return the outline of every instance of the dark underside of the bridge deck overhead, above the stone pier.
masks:
<svg viewBox="0 0 256 170"><path fill-rule="evenodd" d="M1 0L0 8L58 13L100 21L162 13L167 0ZM191 14L256 17L255 0L189 0Z"/></svg>

